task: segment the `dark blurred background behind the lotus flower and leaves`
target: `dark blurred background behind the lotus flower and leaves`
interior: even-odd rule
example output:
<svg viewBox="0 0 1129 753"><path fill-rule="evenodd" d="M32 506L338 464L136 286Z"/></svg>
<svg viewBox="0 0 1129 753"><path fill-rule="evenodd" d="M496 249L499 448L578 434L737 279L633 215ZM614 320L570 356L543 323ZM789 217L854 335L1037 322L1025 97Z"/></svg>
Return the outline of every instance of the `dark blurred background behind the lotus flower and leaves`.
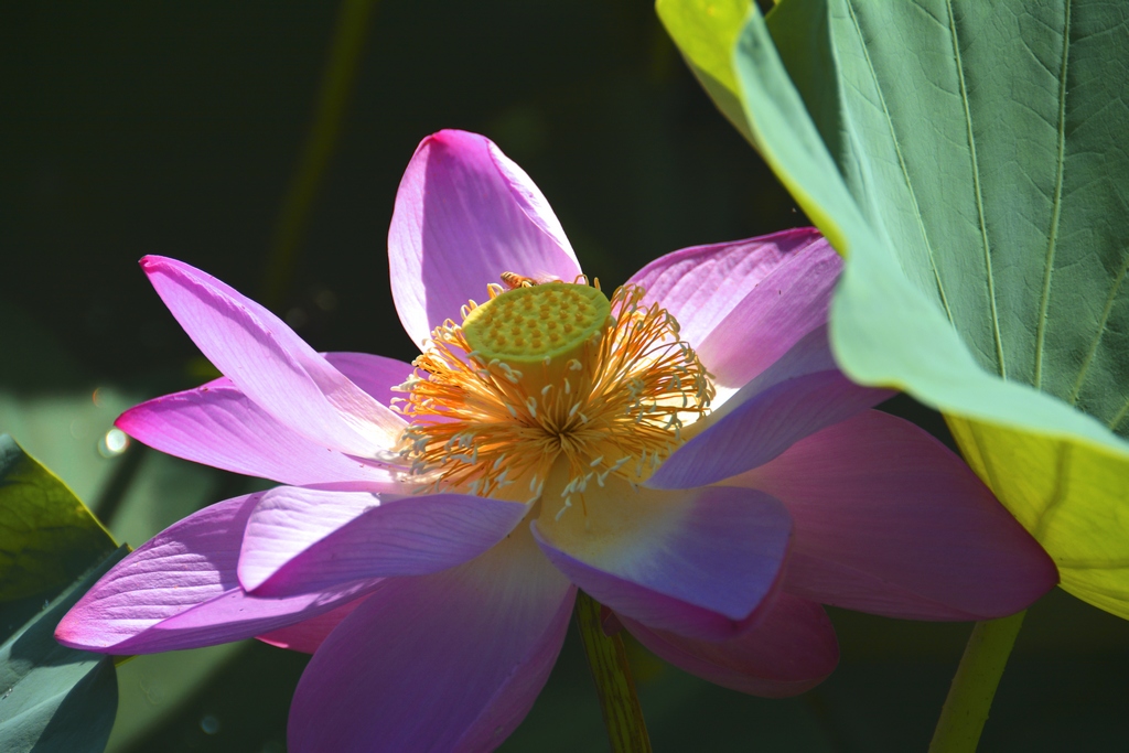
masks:
<svg viewBox="0 0 1129 753"><path fill-rule="evenodd" d="M145 254L215 274L318 350L410 360L385 237L436 130L493 139L609 287L675 248L806 225L647 0L3 3L0 70L0 432L134 546L263 485L112 430L131 404L216 375ZM912 401L885 408L948 439ZM925 750L971 627L832 618L839 669L785 701L630 647L655 750ZM305 662L254 642L137 658L119 671L110 750L281 753ZM1124 750L1127 676L1129 624L1052 593L981 751ZM606 748L570 634L502 750Z"/></svg>

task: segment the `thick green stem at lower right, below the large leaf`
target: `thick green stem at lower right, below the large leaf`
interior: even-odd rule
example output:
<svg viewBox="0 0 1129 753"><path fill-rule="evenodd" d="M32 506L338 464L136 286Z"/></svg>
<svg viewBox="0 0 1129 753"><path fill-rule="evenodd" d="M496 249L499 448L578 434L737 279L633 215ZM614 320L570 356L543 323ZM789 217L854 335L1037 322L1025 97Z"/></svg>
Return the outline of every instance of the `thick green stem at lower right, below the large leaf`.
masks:
<svg viewBox="0 0 1129 753"><path fill-rule="evenodd" d="M1026 612L978 622L953 675L929 753L973 753Z"/></svg>

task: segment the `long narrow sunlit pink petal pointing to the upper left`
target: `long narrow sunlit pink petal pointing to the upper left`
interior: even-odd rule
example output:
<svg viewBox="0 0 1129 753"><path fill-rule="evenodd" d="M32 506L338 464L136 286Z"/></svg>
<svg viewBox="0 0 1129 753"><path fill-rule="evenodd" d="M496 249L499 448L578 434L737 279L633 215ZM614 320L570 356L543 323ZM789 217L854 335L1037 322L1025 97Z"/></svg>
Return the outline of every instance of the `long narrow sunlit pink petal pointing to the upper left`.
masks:
<svg viewBox="0 0 1129 753"><path fill-rule="evenodd" d="M161 256L141 266L216 368L280 422L332 449L387 457L401 417L333 368L281 319L210 274Z"/></svg>

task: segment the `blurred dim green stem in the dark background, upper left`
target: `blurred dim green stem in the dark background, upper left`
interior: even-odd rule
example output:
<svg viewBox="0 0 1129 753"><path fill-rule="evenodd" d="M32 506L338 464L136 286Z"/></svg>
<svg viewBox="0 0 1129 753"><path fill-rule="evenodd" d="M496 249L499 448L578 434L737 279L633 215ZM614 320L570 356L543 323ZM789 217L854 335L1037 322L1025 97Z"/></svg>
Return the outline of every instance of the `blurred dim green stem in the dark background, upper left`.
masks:
<svg viewBox="0 0 1129 753"><path fill-rule="evenodd" d="M309 221L314 198L341 132L349 93L368 33L368 19L376 0L342 0L336 28L330 45L330 59L322 75L314 126L290 181L266 265L266 279L260 300L268 307L283 303L298 256L298 246Z"/></svg>

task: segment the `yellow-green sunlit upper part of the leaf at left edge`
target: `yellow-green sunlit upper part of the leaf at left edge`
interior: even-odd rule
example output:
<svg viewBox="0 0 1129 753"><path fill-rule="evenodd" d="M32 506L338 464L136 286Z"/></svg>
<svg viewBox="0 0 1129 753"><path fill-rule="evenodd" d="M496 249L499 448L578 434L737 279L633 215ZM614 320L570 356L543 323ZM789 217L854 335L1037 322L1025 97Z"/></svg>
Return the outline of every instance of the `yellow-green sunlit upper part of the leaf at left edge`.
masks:
<svg viewBox="0 0 1129 753"><path fill-rule="evenodd" d="M0 435L0 603L70 584L116 546L67 484Z"/></svg>

